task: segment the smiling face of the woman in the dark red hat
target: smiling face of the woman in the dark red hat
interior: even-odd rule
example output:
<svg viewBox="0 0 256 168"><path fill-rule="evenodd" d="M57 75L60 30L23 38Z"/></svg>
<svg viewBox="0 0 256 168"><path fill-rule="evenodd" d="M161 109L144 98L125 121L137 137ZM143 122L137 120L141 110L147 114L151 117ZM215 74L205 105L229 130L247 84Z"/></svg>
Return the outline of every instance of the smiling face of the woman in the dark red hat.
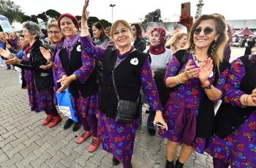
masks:
<svg viewBox="0 0 256 168"><path fill-rule="evenodd" d="M68 17L61 18L60 25L62 34L68 39L75 36L78 31L78 29L75 27L75 24Z"/></svg>

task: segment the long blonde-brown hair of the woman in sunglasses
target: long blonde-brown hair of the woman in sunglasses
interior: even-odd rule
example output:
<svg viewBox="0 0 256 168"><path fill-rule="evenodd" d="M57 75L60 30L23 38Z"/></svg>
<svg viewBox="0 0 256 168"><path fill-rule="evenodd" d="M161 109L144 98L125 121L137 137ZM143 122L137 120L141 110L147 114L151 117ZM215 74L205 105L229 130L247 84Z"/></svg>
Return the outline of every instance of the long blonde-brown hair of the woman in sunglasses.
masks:
<svg viewBox="0 0 256 168"><path fill-rule="evenodd" d="M194 44L194 31L195 28L201 23L203 20L214 20L214 23L216 24L216 31L219 35L218 39L216 40L216 46L214 50L213 60L214 64L217 66L217 69L219 70L219 65L222 63L223 59L223 51L225 48L225 45L227 44L227 31L226 31L226 23L225 20L219 16L219 15L201 15L193 24L191 30L189 31L189 38L187 45L184 47L184 49L191 49L192 45ZM211 45L208 47L208 56L211 56L211 49L214 45L214 42L211 43Z"/></svg>

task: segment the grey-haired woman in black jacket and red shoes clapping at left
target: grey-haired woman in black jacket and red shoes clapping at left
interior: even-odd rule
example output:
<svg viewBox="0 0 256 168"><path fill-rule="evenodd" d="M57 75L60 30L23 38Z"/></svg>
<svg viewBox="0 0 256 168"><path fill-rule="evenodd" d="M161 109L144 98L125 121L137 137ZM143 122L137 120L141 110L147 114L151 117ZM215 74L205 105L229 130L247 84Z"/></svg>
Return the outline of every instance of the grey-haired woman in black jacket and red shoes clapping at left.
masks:
<svg viewBox="0 0 256 168"><path fill-rule="evenodd" d="M14 64L24 69L24 78L29 93L29 105L31 111L45 111L47 118L42 121L45 126L56 126L61 121L61 115L56 110L53 95L53 72L51 69L40 69L47 60L42 56L39 47L42 42L39 40L42 33L40 27L34 22L23 23L23 35L29 46L23 52L21 59L14 56L6 61L6 64Z"/></svg>

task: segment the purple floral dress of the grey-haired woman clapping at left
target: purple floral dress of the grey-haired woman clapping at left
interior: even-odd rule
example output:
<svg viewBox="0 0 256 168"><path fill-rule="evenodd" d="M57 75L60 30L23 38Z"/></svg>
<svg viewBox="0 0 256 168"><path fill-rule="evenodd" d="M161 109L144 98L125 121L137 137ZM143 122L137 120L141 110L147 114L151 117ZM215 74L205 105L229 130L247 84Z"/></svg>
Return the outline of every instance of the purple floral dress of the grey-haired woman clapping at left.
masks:
<svg viewBox="0 0 256 168"><path fill-rule="evenodd" d="M23 51L22 59L29 61L29 50ZM52 108L57 104L55 96L53 96L53 89L37 92L34 83L34 72L31 69L24 69L24 78L28 87L29 93L29 106L31 111L41 112L45 109Z"/></svg>

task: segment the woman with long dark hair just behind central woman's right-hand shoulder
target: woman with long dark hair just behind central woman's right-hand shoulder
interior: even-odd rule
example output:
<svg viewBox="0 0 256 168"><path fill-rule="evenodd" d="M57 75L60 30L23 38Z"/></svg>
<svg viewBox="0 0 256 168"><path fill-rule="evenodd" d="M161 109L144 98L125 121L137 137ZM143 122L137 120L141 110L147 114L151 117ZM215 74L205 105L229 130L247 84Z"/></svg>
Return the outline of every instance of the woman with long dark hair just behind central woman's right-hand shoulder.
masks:
<svg viewBox="0 0 256 168"><path fill-rule="evenodd" d="M135 49L143 51L146 49L146 44L142 37L142 28L138 23L133 23L132 28L132 37L133 37L133 47Z"/></svg>

